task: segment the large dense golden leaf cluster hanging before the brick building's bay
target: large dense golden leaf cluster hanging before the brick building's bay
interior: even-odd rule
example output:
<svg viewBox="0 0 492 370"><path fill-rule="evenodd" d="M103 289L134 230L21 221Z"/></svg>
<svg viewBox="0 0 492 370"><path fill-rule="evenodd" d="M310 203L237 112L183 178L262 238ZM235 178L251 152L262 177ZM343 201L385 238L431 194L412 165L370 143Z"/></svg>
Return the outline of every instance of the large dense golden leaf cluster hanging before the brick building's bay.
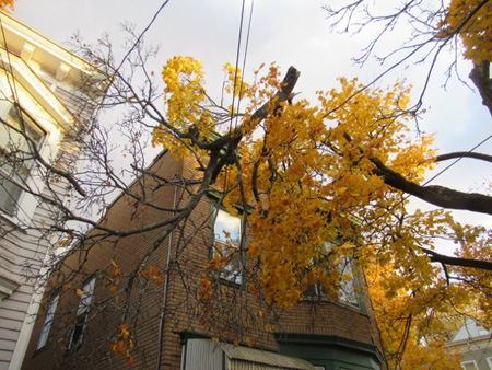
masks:
<svg viewBox="0 0 492 370"><path fill-rule="evenodd" d="M330 289L341 278L336 268L327 275L325 263L313 262L327 259L326 241L351 235L349 215L367 216L367 207L388 192L373 174L372 158L405 170L415 182L431 163L432 138L413 142L408 136L407 89L397 83L387 92L365 91L342 105L362 85L340 83L339 90L319 92L320 107L307 101L283 105L281 114L262 123L262 137L242 147L247 200L256 203L248 216L248 257L261 258L260 281L270 303L291 307L313 281L336 291ZM251 196L254 188L259 199ZM239 201L241 194L229 197ZM345 252L331 251L332 261Z"/></svg>

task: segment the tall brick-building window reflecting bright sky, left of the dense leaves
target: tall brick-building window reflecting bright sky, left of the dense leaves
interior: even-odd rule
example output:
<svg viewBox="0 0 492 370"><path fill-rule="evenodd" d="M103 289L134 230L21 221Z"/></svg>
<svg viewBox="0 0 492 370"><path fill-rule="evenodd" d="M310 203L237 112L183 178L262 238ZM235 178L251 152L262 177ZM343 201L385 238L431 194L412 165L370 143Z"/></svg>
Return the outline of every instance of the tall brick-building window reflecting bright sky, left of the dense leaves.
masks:
<svg viewBox="0 0 492 370"><path fill-rule="evenodd" d="M241 219L218 209L213 226L212 258L220 261L220 277L241 284L243 256L241 252Z"/></svg>

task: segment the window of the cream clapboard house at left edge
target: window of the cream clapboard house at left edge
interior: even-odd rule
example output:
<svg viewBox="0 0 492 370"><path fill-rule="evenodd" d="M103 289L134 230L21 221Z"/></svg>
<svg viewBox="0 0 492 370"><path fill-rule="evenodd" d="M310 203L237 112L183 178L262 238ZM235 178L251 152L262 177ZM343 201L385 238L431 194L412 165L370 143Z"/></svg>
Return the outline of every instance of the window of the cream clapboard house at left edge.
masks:
<svg viewBox="0 0 492 370"><path fill-rule="evenodd" d="M0 125L0 208L15 215L22 187L33 165L33 147L43 144L46 132L17 105L10 105Z"/></svg>

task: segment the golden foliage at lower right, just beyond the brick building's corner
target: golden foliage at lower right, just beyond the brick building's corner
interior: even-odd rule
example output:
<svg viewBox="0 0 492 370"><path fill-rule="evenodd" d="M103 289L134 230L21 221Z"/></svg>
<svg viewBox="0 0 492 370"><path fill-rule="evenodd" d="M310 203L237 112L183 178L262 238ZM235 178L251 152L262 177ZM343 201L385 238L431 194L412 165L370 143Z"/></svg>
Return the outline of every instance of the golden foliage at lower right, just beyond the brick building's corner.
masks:
<svg viewBox="0 0 492 370"><path fill-rule="evenodd" d="M405 284L395 290L402 281L387 280L396 276L389 266L370 269L367 276L389 368L459 369L461 355L445 345L462 322L458 312L469 297L444 289L443 280L433 289L424 289L426 282L418 290L408 290Z"/></svg>

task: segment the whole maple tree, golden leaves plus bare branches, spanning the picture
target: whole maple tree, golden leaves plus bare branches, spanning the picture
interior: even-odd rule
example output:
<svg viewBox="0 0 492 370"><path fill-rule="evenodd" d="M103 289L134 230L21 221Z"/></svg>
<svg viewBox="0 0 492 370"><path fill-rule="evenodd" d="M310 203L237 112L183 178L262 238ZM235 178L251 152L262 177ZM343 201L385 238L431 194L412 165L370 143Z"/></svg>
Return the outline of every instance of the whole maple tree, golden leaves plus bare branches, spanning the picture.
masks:
<svg viewBox="0 0 492 370"><path fill-rule="evenodd" d="M360 3L347 5L343 11L350 14ZM490 56L484 53L490 51L489 39L482 41L489 13L488 1L453 1L450 8L433 13L432 41L448 43L464 35L466 57L475 62L472 80L492 109ZM477 20L473 27L465 27L471 20ZM130 302L129 297L139 289L148 291L154 285L167 284L163 276L169 273L169 266L183 268L179 255L161 267L149 259L173 232L180 235L179 247L186 248L190 242L186 235L206 229L190 224L189 216L200 200L213 195L247 227L247 244L246 232L239 242L225 235L225 250L246 256L246 288L269 307L290 308L315 284L336 299L341 281L351 279L337 268L340 261L350 258L366 268L374 282L375 311L391 366L412 368L418 359L431 362L435 358L432 356L441 356L449 333L449 327L440 326L445 314L460 312L475 302L482 313L490 312L490 231L462 226L447 210L408 208L408 195L412 195L438 207L491 215L492 199L487 194L421 185L425 172L441 161L457 157L490 161L490 157L464 152L437 155L432 136L415 138L412 125L420 114L420 102L412 105L408 86L397 82L387 89L374 88L356 79L340 78L338 88L319 91L313 104L295 99L300 78L295 68L282 78L274 63L261 66L247 82L239 69L225 65L224 93L233 102L241 100L239 112L235 104L224 106L210 97L198 60L178 56L163 68L163 99L153 73L145 67L154 50L145 51L139 35L128 31L134 43L124 60L127 70L124 63L115 63L107 39L102 42L108 47L106 53L87 49L83 44L80 50L112 77L104 106L127 108L119 127L129 141L124 155L130 165L122 173L137 178L133 186L127 186L127 178L119 176L108 160L112 134L96 123L90 127L91 140L81 142L81 151L91 161L89 166L75 173L55 173L37 157L37 165L68 182L75 194L67 206L54 192L56 200L49 201L59 222L36 226L44 235L62 235L57 246L75 245L65 251L65 257L74 256L77 265L66 275L52 275L63 293L83 296L80 276L84 276L87 261L83 251L97 248L108 240L114 244L114 258L98 271L107 281L107 298L101 304L120 307ZM141 84L134 81L137 76L143 77ZM194 158L197 173L190 178L162 178L152 172L143 150L147 128L152 130L153 146L164 147L178 159ZM155 189L179 188L186 197L180 197L173 208L163 208L149 196L149 178ZM105 215L110 203L108 193L128 197L134 215L148 208L163 217L156 223L141 221L130 230L96 222L91 211ZM185 233L185 226L194 228L192 232ZM118 261L120 240L149 231L159 231L159 235L143 256L136 257L137 262ZM438 238L456 243L455 256L435 251ZM235 343L250 343L241 333L242 327L235 325L238 315L219 309L221 299L233 300L216 279L216 271L230 261L231 256L221 254L203 261L199 290L190 290L189 299L198 297L201 322L210 332ZM62 264L60 259L55 267ZM178 273L185 279L186 271ZM194 273L191 277L196 278ZM137 346L132 336L138 321L138 313L131 311L134 305L128 303L126 310L115 310L121 323L110 339L115 355L127 357L129 362L133 362ZM402 326L384 320L393 316L400 317ZM487 315L481 319L492 324ZM267 331L274 325L267 317L258 321ZM441 351L426 351L423 342ZM107 347L107 340L103 343Z"/></svg>

